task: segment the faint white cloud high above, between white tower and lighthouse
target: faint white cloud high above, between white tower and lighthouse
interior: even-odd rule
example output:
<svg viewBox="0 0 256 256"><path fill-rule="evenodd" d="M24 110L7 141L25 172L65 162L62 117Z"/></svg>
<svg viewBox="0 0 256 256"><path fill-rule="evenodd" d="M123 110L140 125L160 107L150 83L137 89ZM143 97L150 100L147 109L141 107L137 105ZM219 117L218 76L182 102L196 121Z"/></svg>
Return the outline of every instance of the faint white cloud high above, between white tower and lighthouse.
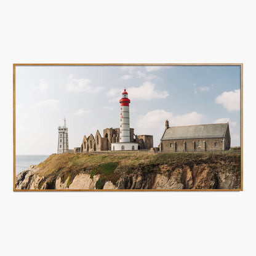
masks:
<svg viewBox="0 0 256 256"><path fill-rule="evenodd" d="M95 87L91 85L90 79L86 78L74 78L73 74L68 76L68 82L66 83L67 92L100 92L104 87Z"/></svg>

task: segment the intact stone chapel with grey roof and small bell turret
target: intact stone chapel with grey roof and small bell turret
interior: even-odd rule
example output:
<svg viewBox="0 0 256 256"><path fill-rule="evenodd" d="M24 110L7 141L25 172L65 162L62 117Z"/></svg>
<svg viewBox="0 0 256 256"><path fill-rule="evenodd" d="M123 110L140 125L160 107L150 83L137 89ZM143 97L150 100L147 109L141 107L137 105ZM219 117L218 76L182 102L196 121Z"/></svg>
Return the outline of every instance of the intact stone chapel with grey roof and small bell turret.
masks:
<svg viewBox="0 0 256 256"><path fill-rule="evenodd" d="M228 123L169 127L169 121L166 120L166 129L161 138L159 151L224 151L230 149L230 140Z"/></svg>

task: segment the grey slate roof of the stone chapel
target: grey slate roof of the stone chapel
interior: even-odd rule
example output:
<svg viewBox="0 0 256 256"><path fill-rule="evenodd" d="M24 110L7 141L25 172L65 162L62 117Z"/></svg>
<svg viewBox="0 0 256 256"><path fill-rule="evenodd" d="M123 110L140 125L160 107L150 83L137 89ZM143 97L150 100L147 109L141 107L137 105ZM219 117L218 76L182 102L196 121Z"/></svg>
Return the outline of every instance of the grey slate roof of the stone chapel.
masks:
<svg viewBox="0 0 256 256"><path fill-rule="evenodd" d="M199 124L197 126L172 126L169 127L161 140L179 140L186 138L223 138L225 137L226 124Z"/></svg>

